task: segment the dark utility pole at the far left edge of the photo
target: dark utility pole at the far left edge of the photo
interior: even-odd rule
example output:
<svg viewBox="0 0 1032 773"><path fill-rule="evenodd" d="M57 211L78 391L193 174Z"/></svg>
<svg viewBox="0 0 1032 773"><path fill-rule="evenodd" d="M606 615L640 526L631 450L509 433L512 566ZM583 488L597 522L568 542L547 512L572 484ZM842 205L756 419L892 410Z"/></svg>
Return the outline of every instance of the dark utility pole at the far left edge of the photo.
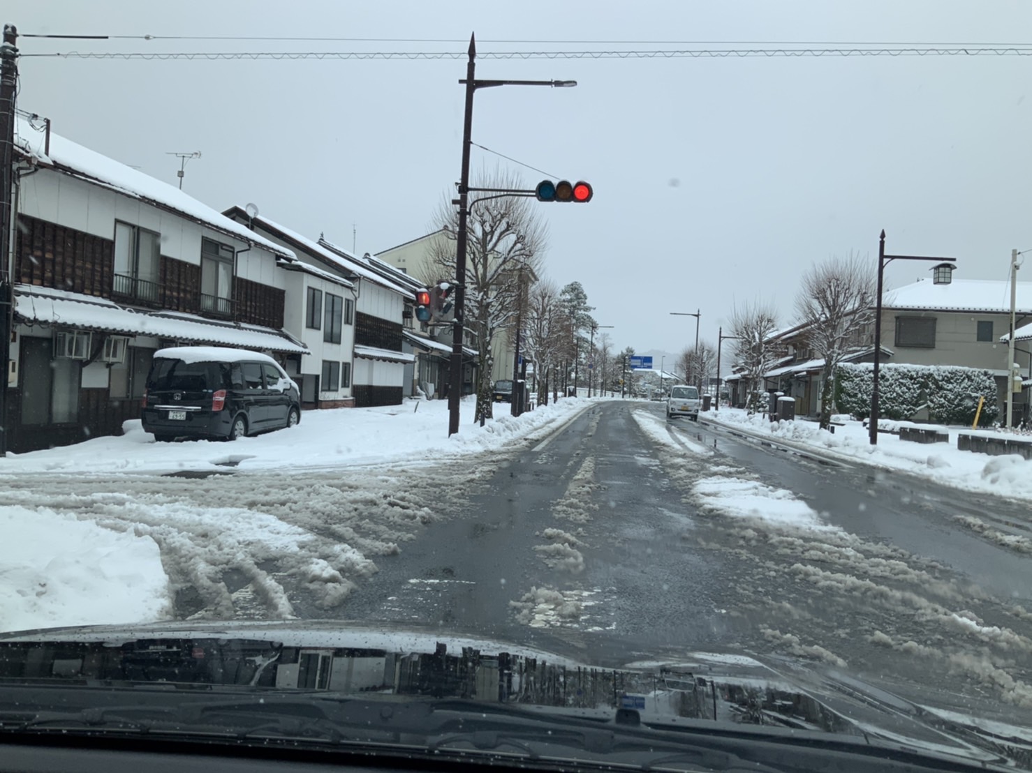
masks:
<svg viewBox="0 0 1032 773"><path fill-rule="evenodd" d="M0 458L7 453L7 379L10 376L10 334L14 312L14 100L18 96L18 29L3 28L0 44Z"/></svg>

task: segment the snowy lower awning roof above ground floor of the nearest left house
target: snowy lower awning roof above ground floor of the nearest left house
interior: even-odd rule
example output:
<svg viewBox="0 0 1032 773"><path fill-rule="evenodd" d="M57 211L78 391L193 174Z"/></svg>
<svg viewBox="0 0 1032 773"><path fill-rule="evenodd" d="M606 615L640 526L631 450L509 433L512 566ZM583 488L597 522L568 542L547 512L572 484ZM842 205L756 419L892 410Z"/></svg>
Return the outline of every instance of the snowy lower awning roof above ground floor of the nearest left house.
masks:
<svg viewBox="0 0 1032 773"><path fill-rule="evenodd" d="M180 311L137 311L103 298L34 284L14 285L14 313L30 325L54 325L271 351L308 352L304 344L272 328L231 323L220 325Z"/></svg>

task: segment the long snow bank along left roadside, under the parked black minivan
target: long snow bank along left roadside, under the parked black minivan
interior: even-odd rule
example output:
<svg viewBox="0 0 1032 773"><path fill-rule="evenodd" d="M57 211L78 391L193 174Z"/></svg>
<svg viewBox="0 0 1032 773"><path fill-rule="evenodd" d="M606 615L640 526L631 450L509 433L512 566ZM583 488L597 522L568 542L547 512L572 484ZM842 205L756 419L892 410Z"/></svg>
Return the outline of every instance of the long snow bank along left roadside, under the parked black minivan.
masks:
<svg viewBox="0 0 1032 773"><path fill-rule="evenodd" d="M533 441L591 405L568 398L521 416L496 405L484 427L473 422L475 400L461 406L458 434L448 436L445 400L413 400L377 408L305 411L301 423L227 443L190 440L157 443L139 421L127 422L121 437L100 437L75 445L30 453L8 453L3 472L165 472L239 466L241 470L343 467L388 462L436 461L499 450L520 439Z"/></svg>

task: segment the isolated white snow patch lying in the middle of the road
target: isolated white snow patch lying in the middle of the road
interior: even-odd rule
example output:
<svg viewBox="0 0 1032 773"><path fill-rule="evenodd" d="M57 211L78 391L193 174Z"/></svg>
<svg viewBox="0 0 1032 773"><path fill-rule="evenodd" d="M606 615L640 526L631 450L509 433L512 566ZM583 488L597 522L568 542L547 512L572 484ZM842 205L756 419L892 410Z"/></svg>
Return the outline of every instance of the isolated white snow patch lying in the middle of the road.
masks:
<svg viewBox="0 0 1032 773"><path fill-rule="evenodd" d="M803 530L839 531L821 523L817 513L785 489L772 489L756 480L714 476L699 480L692 491L704 510L722 515L762 520L765 525Z"/></svg>

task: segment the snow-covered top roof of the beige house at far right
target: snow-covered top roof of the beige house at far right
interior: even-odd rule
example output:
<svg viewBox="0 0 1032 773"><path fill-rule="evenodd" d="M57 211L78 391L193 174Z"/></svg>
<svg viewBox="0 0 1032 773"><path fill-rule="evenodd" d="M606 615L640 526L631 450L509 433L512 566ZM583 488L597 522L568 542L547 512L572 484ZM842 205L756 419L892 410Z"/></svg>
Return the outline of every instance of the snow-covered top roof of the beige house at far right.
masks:
<svg viewBox="0 0 1032 773"><path fill-rule="evenodd" d="M1018 313L1032 313L1032 281L1015 282ZM928 311L1010 311L1010 282L1004 279L957 279L936 284L921 279L885 292L882 308Z"/></svg>

